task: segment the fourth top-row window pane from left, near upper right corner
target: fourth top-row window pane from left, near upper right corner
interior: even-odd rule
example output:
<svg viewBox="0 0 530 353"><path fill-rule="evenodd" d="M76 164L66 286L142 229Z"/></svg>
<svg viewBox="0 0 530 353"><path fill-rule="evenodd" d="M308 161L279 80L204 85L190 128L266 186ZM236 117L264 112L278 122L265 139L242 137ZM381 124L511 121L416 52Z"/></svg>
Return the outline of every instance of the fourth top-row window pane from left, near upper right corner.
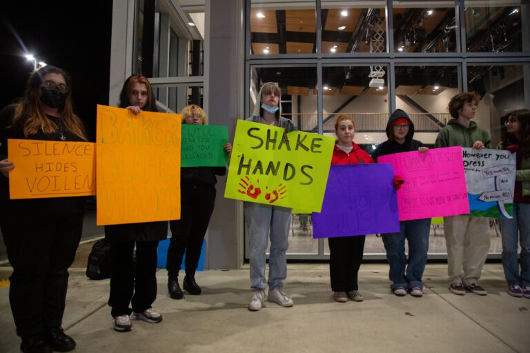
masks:
<svg viewBox="0 0 530 353"><path fill-rule="evenodd" d="M520 0L506 0L464 1L464 6L467 51L523 51L521 28L528 26L529 18L522 17L521 12L528 11L528 5L525 9Z"/></svg>

